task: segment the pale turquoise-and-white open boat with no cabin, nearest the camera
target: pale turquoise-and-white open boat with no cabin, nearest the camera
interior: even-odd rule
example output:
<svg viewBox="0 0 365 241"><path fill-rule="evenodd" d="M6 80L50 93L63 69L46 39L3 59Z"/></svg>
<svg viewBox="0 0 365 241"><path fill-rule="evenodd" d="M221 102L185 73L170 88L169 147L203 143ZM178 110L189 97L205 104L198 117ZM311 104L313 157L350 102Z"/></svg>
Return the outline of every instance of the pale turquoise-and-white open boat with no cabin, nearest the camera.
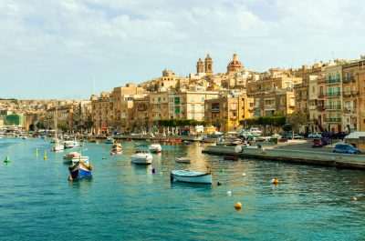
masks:
<svg viewBox="0 0 365 241"><path fill-rule="evenodd" d="M190 172L185 170L173 170L171 181L195 184L212 184L212 174L203 172Z"/></svg>

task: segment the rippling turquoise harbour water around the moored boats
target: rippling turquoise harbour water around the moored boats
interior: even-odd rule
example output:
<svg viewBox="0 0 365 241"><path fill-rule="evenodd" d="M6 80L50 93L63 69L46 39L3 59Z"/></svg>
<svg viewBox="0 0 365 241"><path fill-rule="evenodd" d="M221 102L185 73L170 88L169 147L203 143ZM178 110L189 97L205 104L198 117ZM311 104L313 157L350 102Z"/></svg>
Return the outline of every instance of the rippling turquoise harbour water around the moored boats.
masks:
<svg viewBox="0 0 365 241"><path fill-rule="evenodd" d="M1 158L12 159L0 164L0 240L365 238L364 171L223 161L195 144L162 146L152 174L152 166L130 163L134 144L123 142L121 156L110 156L110 145L87 144L83 155L95 166L93 177L68 182L66 152L50 153L51 144L41 139L0 139ZM186 155L191 165L174 162ZM184 168L211 168L214 185L171 184L170 171ZM270 184L275 177L278 186Z"/></svg>

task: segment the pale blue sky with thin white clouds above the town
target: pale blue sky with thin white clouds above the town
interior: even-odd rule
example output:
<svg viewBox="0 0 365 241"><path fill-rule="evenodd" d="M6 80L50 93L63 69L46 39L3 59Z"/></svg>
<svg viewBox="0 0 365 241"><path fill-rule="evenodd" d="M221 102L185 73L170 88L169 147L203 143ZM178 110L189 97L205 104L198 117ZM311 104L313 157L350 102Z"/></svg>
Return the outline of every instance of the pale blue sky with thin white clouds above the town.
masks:
<svg viewBox="0 0 365 241"><path fill-rule="evenodd" d="M209 53L224 73L365 54L363 0L0 0L0 98L89 99ZM95 83L95 85L94 85Z"/></svg>

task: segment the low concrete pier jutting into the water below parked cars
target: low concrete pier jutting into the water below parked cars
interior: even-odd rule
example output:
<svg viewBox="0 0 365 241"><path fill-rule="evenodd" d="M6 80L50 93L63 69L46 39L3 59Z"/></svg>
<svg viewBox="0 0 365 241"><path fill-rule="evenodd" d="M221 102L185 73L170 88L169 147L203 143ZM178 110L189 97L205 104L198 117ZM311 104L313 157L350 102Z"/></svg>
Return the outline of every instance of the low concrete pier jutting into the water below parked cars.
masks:
<svg viewBox="0 0 365 241"><path fill-rule="evenodd" d="M318 166L336 166L342 168L365 170L365 156L321 153L298 150L285 150L276 148L242 148L241 153L235 152L235 147L207 146L202 151L206 154L240 156L244 158L259 158L270 161L280 161L297 164L309 164Z"/></svg>

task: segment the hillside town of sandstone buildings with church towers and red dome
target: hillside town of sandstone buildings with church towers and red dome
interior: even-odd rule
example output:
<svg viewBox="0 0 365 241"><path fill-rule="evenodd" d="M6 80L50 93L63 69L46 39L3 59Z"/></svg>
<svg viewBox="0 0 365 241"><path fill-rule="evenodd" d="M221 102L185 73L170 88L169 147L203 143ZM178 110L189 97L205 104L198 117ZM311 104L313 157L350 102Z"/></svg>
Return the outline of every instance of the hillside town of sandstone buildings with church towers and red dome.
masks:
<svg viewBox="0 0 365 241"><path fill-rule="evenodd" d="M365 131L365 55L299 68L255 72L234 54L225 73L214 73L210 54L186 77L162 76L91 95L89 100L0 100L0 126L69 133L151 132L159 120L194 120L223 132L259 116L293 115L303 134Z"/></svg>

